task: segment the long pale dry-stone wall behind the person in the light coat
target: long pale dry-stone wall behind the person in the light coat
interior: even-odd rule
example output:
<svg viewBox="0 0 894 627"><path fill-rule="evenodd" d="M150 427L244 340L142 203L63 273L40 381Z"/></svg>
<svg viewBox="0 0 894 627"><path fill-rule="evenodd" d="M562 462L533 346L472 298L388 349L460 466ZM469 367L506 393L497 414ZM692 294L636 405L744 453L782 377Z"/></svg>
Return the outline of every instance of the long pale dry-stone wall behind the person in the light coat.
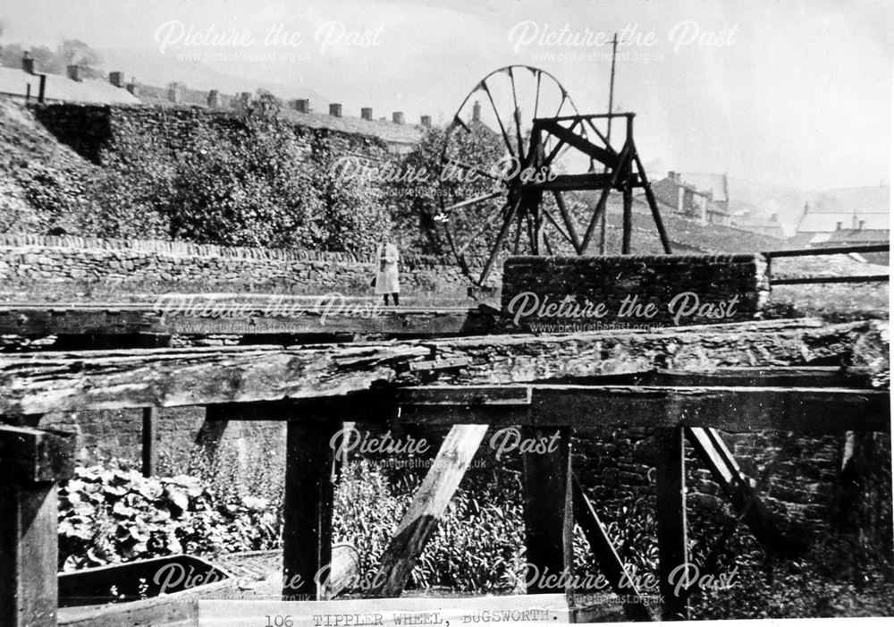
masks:
<svg viewBox="0 0 894 627"><path fill-rule="evenodd" d="M0 284L20 301L132 300L166 292L370 294L374 275L372 256L340 252L0 234ZM448 259L401 260L405 292L464 298L467 287Z"/></svg>

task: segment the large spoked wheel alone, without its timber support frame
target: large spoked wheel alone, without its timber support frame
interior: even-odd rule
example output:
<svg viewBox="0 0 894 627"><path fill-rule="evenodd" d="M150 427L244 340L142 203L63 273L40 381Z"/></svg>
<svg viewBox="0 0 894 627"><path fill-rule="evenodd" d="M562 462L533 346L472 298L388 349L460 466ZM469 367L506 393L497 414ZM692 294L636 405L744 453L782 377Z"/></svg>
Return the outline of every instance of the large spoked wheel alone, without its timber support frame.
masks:
<svg viewBox="0 0 894 627"><path fill-rule="evenodd" d="M485 284L510 254L580 254L576 216L586 211L560 190L531 183L589 169L567 143L532 133L534 120L578 115L549 72L510 65L472 89L446 130L435 221L469 279ZM593 129L595 131L595 128ZM586 128L580 129L586 138Z"/></svg>

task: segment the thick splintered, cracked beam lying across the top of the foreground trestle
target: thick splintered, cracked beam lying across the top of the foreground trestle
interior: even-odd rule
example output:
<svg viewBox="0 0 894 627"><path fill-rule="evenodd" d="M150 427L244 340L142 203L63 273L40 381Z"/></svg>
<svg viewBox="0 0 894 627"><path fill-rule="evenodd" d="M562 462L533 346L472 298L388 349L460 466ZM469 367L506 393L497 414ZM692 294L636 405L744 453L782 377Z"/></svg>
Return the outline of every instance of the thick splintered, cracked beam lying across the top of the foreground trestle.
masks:
<svg viewBox="0 0 894 627"><path fill-rule="evenodd" d="M391 344L247 346L52 352L0 357L0 413L171 407L339 396L430 377L417 361L468 358L445 384L503 385L654 368L804 364L841 360L857 343L887 350L881 323L814 326L746 323L655 333L488 335Z"/></svg>

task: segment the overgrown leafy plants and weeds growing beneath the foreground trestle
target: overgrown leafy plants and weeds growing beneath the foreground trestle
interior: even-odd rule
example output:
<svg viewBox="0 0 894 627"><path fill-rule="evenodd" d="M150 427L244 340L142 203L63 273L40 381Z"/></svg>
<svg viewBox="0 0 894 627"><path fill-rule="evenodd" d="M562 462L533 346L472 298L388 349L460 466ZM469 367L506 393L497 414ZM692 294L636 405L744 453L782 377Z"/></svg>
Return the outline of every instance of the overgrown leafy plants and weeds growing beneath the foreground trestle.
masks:
<svg viewBox="0 0 894 627"><path fill-rule="evenodd" d="M194 475L145 479L120 462L80 468L60 491L60 566L65 570L177 552L206 555L279 547L282 483L259 477L240 486L221 462ZM226 468L225 468L226 467ZM333 541L357 547L362 582L371 581L425 470L355 460L342 469ZM630 499L600 512L629 572L658 572L654 504ZM726 589L696 589L699 619L894 614L890 556L841 531L814 538L806 555L773 559L735 518L695 512L691 559L701 574L734 573ZM721 539L722 538L722 539ZM576 572L599 568L579 529ZM426 547L410 589L507 594L523 589L524 519L518 470L493 463L470 470ZM595 590L581 590L583 593ZM644 594L657 594L644 590ZM606 606L606 616L619 606Z"/></svg>

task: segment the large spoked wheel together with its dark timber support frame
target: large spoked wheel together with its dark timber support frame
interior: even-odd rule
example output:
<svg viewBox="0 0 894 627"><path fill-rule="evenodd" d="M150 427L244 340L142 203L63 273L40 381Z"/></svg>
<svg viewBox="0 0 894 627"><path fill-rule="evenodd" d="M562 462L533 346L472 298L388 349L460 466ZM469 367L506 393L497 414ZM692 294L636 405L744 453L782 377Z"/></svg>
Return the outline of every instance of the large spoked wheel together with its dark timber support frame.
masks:
<svg viewBox="0 0 894 627"><path fill-rule="evenodd" d="M535 83L525 93L522 79L530 74ZM501 79L503 84L501 88ZM545 93L553 88L555 98L547 102ZM503 93L500 100L501 91ZM471 123L462 114L468 108L473 95L486 98L486 108L493 112L494 127L486 127L480 120L480 107L472 113ZM558 101L558 104L556 103ZM522 129L521 106L531 106L533 118L529 129ZM611 103L610 103L611 106ZM565 114L563 114L563 111ZM568 112L573 112L569 114ZM545 117L544 114L552 114ZM453 194L450 174L459 170L476 175L481 182L490 179L493 188L486 190L474 186L475 195L470 198L447 200L441 195L441 213L434 218L444 225L444 237L457 259L460 268L477 285L484 285L488 275L502 253L512 241L512 254L557 254L547 237L547 229L567 242L575 254L584 255L591 250L596 226L603 221L600 251L604 254L604 217L609 193L620 191L623 198L623 223L620 254L630 253L633 233L633 191L642 188L658 236L665 253L671 253L671 242L662 223L652 187L633 139L634 113L579 114L568 91L550 72L528 65L509 65L490 72L480 80L453 115L453 121L445 133L441 153L443 172L440 179L443 191ZM625 138L616 148L611 143L611 123L623 119ZM605 131L597 123L605 123ZM499 132L498 132L499 130ZM496 173L493 164L486 163L484 155L458 158L460 148L476 133L493 134L504 151L504 157L517 167L508 173ZM589 172L568 174L564 172L561 158L569 150L576 151L589 162ZM602 172L597 172L601 167ZM502 174L502 175L501 175ZM447 182L444 182L446 179ZM584 233L578 233L576 218L562 197L566 191L599 191L595 206L587 209ZM555 214L545 196L555 201ZM477 212L475 219L467 220L464 214ZM469 224L467 224L469 223ZM434 224L434 223L433 223ZM470 233L460 233L460 227ZM514 234L513 234L514 229ZM493 231L493 237L488 233ZM464 236L464 237L461 237ZM465 240L465 241L463 241ZM489 241L488 241L489 240ZM475 243L485 245L486 258L480 272L473 271L466 254Z"/></svg>

